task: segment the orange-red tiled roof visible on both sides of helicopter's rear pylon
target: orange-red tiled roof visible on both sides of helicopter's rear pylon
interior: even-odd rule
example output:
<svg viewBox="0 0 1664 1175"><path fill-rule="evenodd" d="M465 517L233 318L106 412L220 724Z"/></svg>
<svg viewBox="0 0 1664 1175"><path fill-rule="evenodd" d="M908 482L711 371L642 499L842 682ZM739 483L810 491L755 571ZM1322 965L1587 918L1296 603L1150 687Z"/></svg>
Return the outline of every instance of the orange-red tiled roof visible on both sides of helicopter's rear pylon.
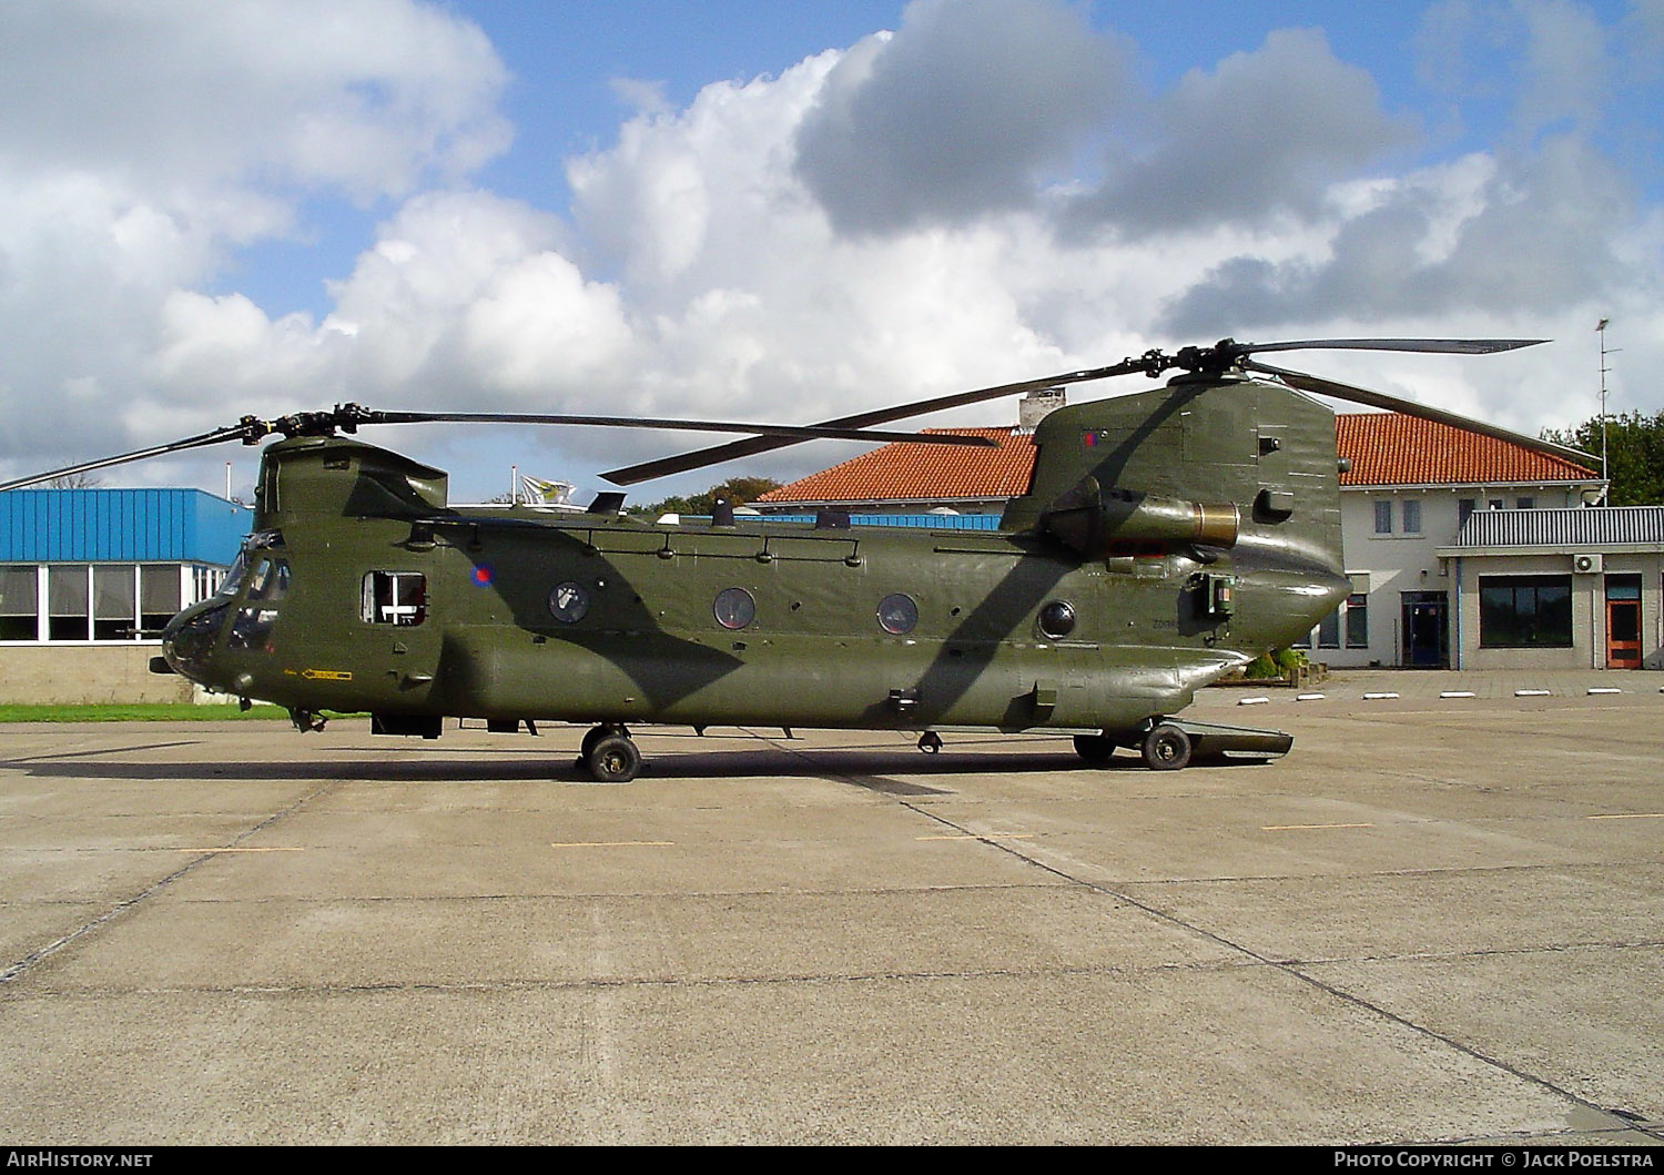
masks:
<svg viewBox="0 0 1664 1175"><path fill-rule="evenodd" d="M987 436L998 449L885 444L780 486L757 501L927 503L1015 498L1033 471L1032 436L1013 428L925 429ZM1516 484L1591 481L1599 474L1519 444L1401 413L1338 413L1335 448L1351 458L1343 486Z"/></svg>

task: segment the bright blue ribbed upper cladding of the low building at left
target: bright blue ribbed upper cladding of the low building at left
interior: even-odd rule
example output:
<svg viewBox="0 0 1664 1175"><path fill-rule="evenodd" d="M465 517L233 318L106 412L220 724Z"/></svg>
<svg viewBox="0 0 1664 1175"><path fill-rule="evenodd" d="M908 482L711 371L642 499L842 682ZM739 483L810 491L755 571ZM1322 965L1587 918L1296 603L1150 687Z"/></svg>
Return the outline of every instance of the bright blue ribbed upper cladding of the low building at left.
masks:
<svg viewBox="0 0 1664 1175"><path fill-rule="evenodd" d="M0 563L228 564L253 513L201 489L0 493Z"/></svg>

